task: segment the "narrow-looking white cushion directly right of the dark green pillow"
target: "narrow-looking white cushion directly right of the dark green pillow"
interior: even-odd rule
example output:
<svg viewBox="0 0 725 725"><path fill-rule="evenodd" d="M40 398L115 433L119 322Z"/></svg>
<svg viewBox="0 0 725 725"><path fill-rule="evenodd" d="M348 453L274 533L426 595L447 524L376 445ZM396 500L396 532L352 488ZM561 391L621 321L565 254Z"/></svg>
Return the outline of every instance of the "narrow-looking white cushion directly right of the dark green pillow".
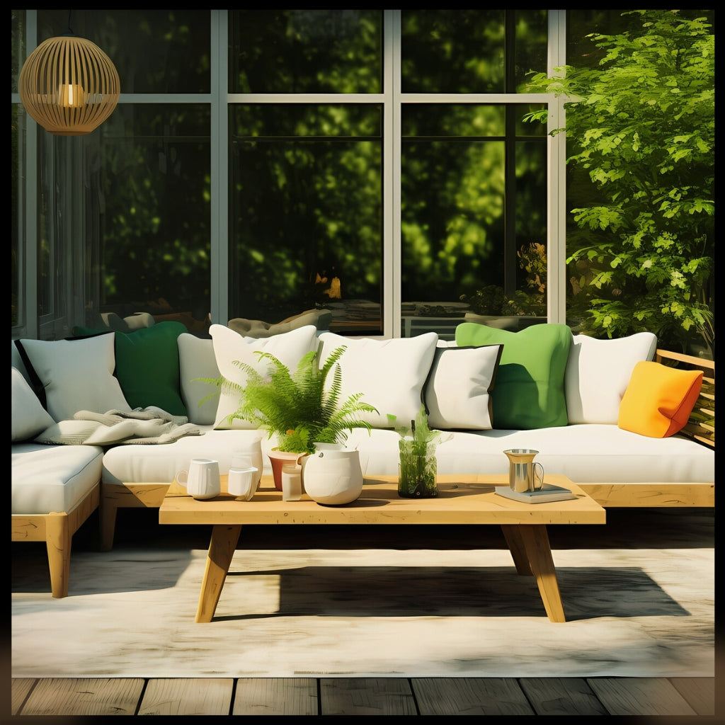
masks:
<svg viewBox="0 0 725 725"><path fill-rule="evenodd" d="M199 378L215 380L219 377L214 344L209 339L188 332L181 333L176 342L179 348L181 399L186 405L188 422L197 426L211 426L217 418L219 391ZM209 398L210 394L212 397Z"/></svg>

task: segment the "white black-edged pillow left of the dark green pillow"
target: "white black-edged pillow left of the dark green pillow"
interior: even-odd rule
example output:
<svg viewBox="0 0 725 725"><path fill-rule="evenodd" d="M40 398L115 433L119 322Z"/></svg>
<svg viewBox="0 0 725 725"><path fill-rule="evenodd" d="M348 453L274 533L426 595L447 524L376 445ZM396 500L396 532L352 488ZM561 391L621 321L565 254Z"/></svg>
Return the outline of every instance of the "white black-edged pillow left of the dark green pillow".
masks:
<svg viewBox="0 0 725 725"><path fill-rule="evenodd" d="M113 333L74 340L20 340L55 421L70 420L78 410L130 410L113 375L114 342ZM33 373L28 373L32 379Z"/></svg>

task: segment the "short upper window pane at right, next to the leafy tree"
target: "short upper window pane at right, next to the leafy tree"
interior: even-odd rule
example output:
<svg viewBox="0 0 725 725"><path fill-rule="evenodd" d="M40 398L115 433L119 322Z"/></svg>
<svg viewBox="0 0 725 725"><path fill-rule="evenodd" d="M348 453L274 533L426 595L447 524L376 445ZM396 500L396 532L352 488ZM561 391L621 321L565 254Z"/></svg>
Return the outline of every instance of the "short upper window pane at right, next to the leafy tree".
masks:
<svg viewBox="0 0 725 725"><path fill-rule="evenodd" d="M513 93L546 70L545 10L402 10L401 25L404 93Z"/></svg>

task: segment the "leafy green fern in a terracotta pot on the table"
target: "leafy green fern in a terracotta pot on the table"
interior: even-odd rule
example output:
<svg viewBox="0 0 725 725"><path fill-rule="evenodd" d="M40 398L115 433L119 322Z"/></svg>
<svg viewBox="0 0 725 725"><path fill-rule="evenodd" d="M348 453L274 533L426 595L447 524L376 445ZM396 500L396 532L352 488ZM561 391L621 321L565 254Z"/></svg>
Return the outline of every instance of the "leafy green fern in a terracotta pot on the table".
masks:
<svg viewBox="0 0 725 725"><path fill-rule="evenodd" d="M294 373L269 352L258 353L260 361L269 362L266 376L252 365L237 363L247 373L247 383L230 420L241 418L254 423L268 431L269 438L276 434L278 444L273 452L286 454L281 455L281 460L270 455L278 489L283 463L297 462L303 455L314 453L316 443L344 444L352 428L369 431L370 423L361 414L378 412L361 400L362 393L341 401L342 372L337 362L347 347L337 347L320 364L322 349L320 342L317 350L299 360Z"/></svg>

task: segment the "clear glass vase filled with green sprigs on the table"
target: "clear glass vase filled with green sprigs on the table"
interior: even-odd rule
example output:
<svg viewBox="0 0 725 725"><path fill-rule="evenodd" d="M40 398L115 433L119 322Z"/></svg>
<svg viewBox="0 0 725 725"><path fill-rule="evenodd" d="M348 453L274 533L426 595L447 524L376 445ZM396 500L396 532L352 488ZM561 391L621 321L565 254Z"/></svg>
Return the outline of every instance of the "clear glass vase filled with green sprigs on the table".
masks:
<svg viewBox="0 0 725 725"><path fill-rule="evenodd" d="M437 496L436 445L442 442L442 434L428 427L425 406L421 406L415 420L410 421L410 428L405 426L396 430L400 435L398 495L402 498Z"/></svg>

